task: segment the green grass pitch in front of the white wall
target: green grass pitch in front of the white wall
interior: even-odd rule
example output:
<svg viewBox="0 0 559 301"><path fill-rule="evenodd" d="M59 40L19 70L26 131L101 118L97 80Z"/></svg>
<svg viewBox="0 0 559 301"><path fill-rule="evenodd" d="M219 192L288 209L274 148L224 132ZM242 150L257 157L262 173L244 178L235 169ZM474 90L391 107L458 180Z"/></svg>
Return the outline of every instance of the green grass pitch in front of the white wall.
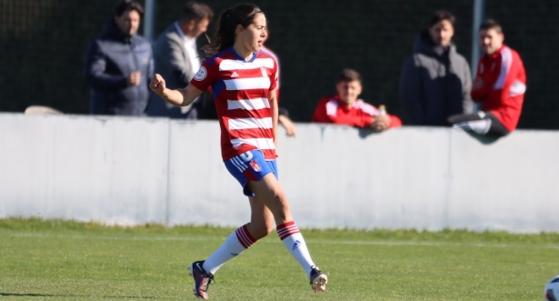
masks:
<svg viewBox="0 0 559 301"><path fill-rule="evenodd" d="M0 300L194 300L187 266L232 230L0 220ZM219 270L210 299L542 300L559 274L559 234L302 232L326 293L273 233Z"/></svg>

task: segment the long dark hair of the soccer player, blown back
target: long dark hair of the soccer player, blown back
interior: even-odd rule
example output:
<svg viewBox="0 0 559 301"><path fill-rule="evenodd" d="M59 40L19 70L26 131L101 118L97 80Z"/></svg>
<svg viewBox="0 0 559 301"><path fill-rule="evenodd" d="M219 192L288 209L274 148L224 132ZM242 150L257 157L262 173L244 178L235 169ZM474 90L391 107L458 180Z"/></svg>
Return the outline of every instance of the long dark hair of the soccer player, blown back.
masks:
<svg viewBox="0 0 559 301"><path fill-rule="evenodd" d="M235 43L235 29L237 25L246 28L246 26L253 23L258 13L263 12L258 6L249 3L235 5L221 13L214 41L202 47L202 50L205 52L205 58L216 55L232 46Z"/></svg>

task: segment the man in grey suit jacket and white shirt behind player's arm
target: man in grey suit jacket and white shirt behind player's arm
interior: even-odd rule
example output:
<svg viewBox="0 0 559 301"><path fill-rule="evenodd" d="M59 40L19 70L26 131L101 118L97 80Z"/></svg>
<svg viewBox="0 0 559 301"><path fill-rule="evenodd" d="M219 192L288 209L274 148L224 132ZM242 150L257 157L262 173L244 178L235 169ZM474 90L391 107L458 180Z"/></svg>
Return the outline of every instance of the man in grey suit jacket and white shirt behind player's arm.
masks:
<svg viewBox="0 0 559 301"><path fill-rule="evenodd" d="M167 27L155 40L155 73L165 78L168 88L184 88L200 69L201 54L196 38L207 31L213 17L210 6L188 2L180 20ZM150 97L147 114L186 119L198 117L195 104L181 107L170 105L155 93Z"/></svg>

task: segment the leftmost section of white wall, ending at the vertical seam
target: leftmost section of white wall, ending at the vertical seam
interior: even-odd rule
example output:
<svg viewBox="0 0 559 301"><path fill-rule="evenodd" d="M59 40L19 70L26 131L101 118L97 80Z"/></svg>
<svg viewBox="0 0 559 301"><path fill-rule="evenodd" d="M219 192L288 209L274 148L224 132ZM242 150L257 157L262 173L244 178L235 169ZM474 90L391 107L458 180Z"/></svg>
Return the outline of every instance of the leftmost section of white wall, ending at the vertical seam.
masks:
<svg viewBox="0 0 559 301"><path fill-rule="evenodd" d="M0 115L0 216L165 221L165 119Z"/></svg>

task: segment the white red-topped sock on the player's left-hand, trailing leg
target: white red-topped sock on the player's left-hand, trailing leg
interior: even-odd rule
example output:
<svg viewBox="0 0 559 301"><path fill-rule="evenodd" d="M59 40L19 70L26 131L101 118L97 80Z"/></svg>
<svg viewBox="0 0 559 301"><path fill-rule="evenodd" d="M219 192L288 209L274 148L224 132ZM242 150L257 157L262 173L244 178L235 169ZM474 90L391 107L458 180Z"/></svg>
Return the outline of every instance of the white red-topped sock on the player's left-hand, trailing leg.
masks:
<svg viewBox="0 0 559 301"><path fill-rule="evenodd" d="M225 265L227 261L243 253L243 251L255 245L255 243L256 240L248 233L246 225L240 226L225 239L223 245L205 259L204 266L202 267L204 267L207 273L213 275L221 266Z"/></svg>

